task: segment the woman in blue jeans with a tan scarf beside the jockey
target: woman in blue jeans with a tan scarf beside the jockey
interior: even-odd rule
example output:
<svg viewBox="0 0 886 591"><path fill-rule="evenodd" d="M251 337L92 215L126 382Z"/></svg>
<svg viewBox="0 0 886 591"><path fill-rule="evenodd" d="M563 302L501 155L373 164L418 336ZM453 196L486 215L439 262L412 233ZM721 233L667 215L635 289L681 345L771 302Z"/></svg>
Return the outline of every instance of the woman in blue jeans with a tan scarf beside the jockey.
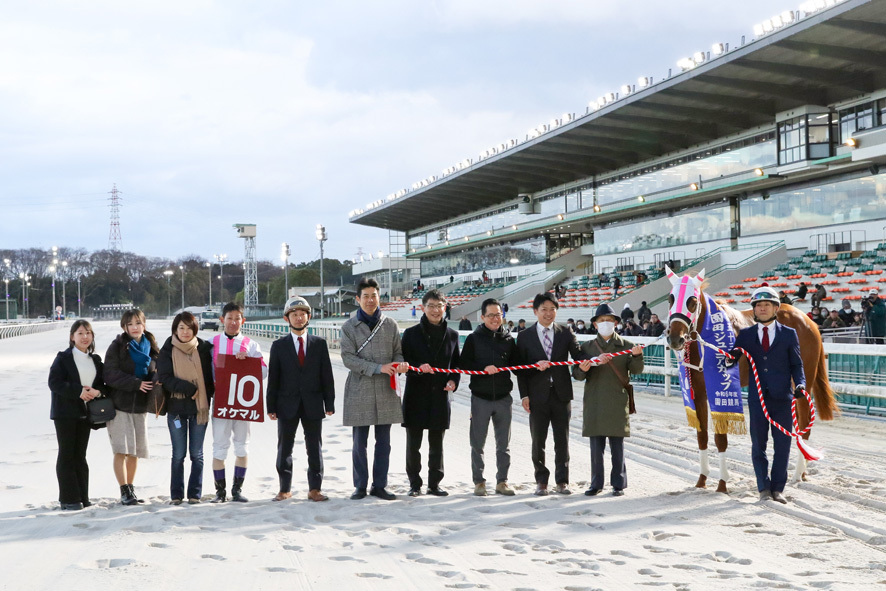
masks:
<svg viewBox="0 0 886 591"><path fill-rule="evenodd" d="M197 319L190 312L172 321L172 336L157 357L157 374L166 398L166 424L172 440L172 477L169 498L181 505L187 492L194 505L203 496L203 440L215 383L212 379L212 343L197 338ZM191 473L185 491L185 456L190 452Z"/></svg>

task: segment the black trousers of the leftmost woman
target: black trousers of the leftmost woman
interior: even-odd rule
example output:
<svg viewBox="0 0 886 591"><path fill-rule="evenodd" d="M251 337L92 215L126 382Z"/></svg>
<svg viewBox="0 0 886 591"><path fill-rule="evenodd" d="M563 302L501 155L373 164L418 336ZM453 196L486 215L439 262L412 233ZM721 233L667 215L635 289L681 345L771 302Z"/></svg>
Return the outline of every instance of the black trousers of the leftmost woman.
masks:
<svg viewBox="0 0 886 591"><path fill-rule="evenodd" d="M89 466L86 447L92 428L86 419L58 419L55 437L58 440L58 459L55 475L58 478L58 502L89 502Z"/></svg>

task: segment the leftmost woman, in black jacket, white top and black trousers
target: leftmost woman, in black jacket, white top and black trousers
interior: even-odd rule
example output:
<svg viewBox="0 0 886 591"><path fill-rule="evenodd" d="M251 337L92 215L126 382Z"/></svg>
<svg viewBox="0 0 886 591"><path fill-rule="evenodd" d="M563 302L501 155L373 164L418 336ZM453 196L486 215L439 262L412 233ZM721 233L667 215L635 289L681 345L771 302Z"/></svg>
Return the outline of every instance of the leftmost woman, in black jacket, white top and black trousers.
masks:
<svg viewBox="0 0 886 591"><path fill-rule="evenodd" d="M49 418L55 423L58 459L58 502L63 511L88 507L89 465L86 447L92 425L87 418L86 402L106 391L102 377L102 359L94 353L95 333L85 320L71 325L69 347L59 352L49 369L52 406Z"/></svg>

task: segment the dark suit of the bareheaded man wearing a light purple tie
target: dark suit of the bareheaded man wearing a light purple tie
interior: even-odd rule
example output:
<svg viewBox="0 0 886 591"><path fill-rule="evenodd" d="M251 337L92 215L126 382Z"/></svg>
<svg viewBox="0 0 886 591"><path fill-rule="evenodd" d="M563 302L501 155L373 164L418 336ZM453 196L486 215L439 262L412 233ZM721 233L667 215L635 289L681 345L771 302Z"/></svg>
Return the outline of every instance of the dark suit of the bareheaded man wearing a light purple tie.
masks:
<svg viewBox="0 0 886 591"><path fill-rule="evenodd" d="M550 361L583 359L581 348L572 331L554 322ZM547 359L536 324L517 335L517 355L528 365ZM551 367L547 371L517 372L520 398L529 397L529 432L532 435L532 464L535 482L548 484L551 471L545 467L545 444L548 426L554 434L554 479L557 484L569 482L569 419L572 417L572 377L568 366Z"/></svg>

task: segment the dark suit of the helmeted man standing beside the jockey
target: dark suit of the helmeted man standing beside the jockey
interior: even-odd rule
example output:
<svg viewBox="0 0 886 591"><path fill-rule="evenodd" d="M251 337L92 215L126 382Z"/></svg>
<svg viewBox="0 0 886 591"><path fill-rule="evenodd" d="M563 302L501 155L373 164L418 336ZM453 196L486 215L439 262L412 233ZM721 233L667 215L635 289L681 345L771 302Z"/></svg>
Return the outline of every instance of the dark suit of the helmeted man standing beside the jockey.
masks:
<svg viewBox="0 0 886 591"><path fill-rule="evenodd" d="M292 335L274 341L268 363L268 413L277 415L277 474L280 492L292 486L292 446L301 421L308 453L308 486L323 482L323 418L335 412L335 384L326 341L304 335L305 360L299 364Z"/></svg>

